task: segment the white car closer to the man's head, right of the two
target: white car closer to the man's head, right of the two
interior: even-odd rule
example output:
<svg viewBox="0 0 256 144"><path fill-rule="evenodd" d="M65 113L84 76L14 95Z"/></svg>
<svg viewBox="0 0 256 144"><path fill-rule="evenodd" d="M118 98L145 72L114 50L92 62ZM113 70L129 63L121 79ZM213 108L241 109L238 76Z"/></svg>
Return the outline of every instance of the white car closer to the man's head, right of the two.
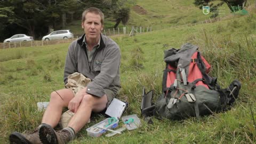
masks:
<svg viewBox="0 0 256 144"><path fill-rule="evenodd" d="M42 41L50 41L52 39L68 39L74 38L74 35L70 32L70 30L57 30L53 31L51 34L46 35L42 38Z"/></svg>

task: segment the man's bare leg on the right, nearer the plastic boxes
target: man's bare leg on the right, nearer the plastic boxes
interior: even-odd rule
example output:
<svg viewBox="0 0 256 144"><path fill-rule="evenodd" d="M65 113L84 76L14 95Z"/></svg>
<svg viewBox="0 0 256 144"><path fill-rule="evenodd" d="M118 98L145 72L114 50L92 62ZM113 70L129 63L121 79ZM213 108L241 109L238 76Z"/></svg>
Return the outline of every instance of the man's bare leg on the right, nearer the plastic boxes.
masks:
<svg viewBox="0 0 256 144"><path fill-rule="evenodd" d="M68 126L72 127L77 133L89 121L92 111L100 112L107 106L107 95L101 98L95 97L91 94L85 94L80 103L75 115L70 119Z"/></svg>

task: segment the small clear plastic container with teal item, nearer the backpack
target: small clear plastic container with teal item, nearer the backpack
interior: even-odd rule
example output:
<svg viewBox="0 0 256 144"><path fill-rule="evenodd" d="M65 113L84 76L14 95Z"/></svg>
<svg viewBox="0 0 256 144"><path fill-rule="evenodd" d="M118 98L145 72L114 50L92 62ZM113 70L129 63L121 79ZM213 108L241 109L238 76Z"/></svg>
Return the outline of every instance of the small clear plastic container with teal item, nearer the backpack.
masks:
<svg viewBox="0 0 256 144"><path fill-rule="evenodd" d="M129 116L123 116L122 121L125 123L126 121L129 121L129 119L133 119L131 123L125 124L127 130L134 130L140 127L140 119L137 115L129 115ZM131 120L130 120L131 121Z"/></svg>

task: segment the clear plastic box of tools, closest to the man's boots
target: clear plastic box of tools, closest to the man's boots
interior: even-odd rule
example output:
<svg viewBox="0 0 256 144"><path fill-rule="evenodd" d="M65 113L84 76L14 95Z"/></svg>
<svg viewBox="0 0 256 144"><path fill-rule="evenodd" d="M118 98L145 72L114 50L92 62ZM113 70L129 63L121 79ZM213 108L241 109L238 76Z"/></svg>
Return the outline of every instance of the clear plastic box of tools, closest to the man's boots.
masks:
<svg viewBox="0 0 256 144"><path fill-rule="evenodd" d="M119 120L116 119L116 122L109 124L109 119L104 119L103 121L99 122L98 124L95 124L89 128L86 129L87 131L87 135L91 136L91 137L100 137L103 133L107 132L107 130L103 130L98 128L99 127L103 127L104 129L115 129L118 126L118 122Z"/></svg>

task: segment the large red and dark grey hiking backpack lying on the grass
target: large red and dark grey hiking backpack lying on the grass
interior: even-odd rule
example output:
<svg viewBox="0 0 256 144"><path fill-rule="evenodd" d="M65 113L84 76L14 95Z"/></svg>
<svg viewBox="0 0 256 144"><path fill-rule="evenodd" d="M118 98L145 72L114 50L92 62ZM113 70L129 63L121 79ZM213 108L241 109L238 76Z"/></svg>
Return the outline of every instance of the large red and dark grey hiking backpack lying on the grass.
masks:
<svg viewBox="0 0 256 144"><path fill-rule="evenodd" d="M153 94L143 94L141 112L144 116L172 120L199 118L227 110L238 96L241 83L235 80L227 89L220 89L217 78L208 75L211 66L198 46L187 43L179 50L167 50L164 61L163 93L155 105L151 103Z"/></svg>

